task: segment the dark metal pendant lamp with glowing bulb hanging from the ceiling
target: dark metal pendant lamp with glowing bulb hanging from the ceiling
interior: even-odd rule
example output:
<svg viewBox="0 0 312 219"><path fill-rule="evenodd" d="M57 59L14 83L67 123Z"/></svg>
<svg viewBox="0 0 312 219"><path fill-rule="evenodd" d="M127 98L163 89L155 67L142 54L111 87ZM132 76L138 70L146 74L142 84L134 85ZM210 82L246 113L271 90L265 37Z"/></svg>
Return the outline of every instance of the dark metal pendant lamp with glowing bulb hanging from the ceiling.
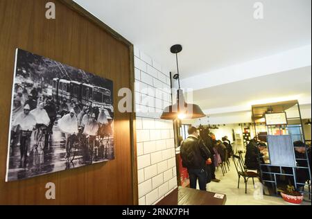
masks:
<svg viewBox="0 0 312 219"><path fill-rule="evenodd" d="M182 46L180 44L171 46L171 53L175 54L175 59L177 61L177 53L182 51ZM177 103L169 105L164 108L162 116L160 119L174 120L174 119L197 119L206 116L202 109L196 104L186 103L184 100L184 95L182 89L180 89L180 75L179 66L177 63L177 73L173 76L177 80L179 89L177 89Z"/></svg>

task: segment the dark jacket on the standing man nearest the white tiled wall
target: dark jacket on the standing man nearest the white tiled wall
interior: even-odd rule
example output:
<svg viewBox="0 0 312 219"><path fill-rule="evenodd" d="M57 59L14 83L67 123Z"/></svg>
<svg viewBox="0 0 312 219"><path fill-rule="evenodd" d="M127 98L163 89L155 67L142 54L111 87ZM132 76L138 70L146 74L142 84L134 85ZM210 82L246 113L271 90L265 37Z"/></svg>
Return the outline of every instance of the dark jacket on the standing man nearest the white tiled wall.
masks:
<svg viewBox="0 0 312 219"><path fill-rule="evenodd" d="M196 139L196 137L188 137L182 141L180 151L182 165L185 168L205 169L206 160L211 156L205 143L201 139Z"/></svg>

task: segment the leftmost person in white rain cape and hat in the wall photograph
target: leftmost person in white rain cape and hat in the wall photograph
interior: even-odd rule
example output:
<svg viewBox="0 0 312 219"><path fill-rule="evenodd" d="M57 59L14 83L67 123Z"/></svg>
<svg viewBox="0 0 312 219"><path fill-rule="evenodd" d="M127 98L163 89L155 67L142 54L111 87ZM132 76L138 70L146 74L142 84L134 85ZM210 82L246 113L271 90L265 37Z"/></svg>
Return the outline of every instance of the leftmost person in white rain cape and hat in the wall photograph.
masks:
<svg viewBox="0 0 312 219"><path fill-rule="evenodd" d="M20 167L26 167L26 159L27 159L27 152L29 143L31 140L31 133L33 132L33 129L36 125L36 119L35 117L30 114L31 107L26 104L24 106L24 112L21 112L12 122L13 126L19 126L19 130L21 130L21 139L20 142L17 143L20 148Z"/></svg>

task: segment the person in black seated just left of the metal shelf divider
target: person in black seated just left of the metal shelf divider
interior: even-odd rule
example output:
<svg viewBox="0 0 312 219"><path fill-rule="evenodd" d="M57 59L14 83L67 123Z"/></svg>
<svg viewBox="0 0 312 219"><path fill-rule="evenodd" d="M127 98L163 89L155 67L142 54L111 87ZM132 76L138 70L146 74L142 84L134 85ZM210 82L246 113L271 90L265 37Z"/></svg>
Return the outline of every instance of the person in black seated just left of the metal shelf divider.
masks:
<svg viewBox="0 0 312 219"><path fill-rule="evenodd" d="M264 164L263 150L266 148L266 143L248 143L246 146L245 166L249 170L259 170L259 164Z"/></svg>

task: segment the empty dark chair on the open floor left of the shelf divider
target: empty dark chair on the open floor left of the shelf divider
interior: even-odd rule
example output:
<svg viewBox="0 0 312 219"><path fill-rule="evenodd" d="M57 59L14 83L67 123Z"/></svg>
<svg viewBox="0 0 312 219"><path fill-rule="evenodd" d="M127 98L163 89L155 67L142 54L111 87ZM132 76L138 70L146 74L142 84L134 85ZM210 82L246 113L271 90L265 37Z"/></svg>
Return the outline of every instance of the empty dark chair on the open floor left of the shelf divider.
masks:
<svg viewBox="0 0 312 219"><path fill-rule="evenodd" d="M250 171L246 170L240 156L233 155L232 159L233 159L233 163L234 163L234 166L236 168L236 171L237 171L237 175L239 175L239 180L241 179L241 177L243 177L243 179L244 179L245 193L247 193L248 179L252 178L252 183L254 184L254 178L258 178L261 181L260 176L258 173L254 173L254 172L250 172ZM239 189L239 184L238 184L237 188Z"/></svg>

